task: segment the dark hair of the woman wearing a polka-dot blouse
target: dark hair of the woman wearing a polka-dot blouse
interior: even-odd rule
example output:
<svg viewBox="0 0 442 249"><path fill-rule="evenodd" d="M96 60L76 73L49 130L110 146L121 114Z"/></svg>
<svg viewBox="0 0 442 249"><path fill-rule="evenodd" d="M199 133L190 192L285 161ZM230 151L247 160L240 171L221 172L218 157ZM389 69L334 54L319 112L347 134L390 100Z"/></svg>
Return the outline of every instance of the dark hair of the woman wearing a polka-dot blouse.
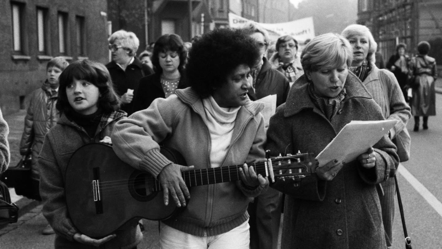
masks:
<svg viewBox="0 0 442 249"><path fill-rule="evenodd" d="M155 72L157 74L161 74L163 72L163 69L160 66L159 54L165 53L168 50L177 52L179 54L178 70L181 73L184 65L186 65L187 49L184 47L183 39L176 34L161 35L160 38L156 40L151 57Z"/></svg>

